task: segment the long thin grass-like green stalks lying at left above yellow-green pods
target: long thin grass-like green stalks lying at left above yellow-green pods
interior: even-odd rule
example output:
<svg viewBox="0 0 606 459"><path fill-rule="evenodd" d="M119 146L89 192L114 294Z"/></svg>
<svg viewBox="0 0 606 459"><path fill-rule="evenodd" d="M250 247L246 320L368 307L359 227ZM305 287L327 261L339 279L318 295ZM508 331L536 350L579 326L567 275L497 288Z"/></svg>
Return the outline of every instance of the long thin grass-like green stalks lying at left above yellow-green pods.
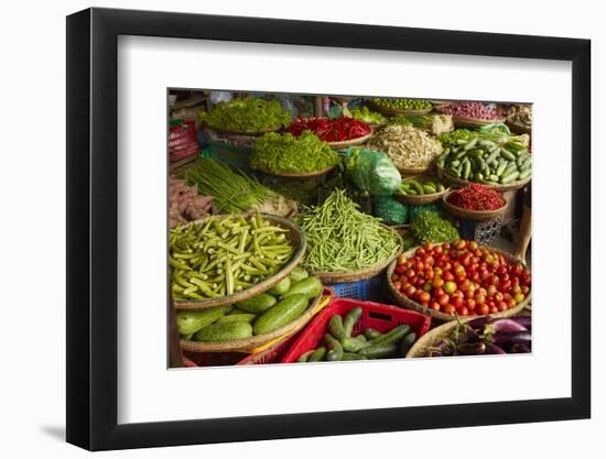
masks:
<svg viewBox="0 0 606 459"><path fill-rule="evenodd" d="M197 159L175 175L192 185L197 184L201 195L213 196L218 214L246 212L268 199L280 197L256 178L212 159Z"/></svg>

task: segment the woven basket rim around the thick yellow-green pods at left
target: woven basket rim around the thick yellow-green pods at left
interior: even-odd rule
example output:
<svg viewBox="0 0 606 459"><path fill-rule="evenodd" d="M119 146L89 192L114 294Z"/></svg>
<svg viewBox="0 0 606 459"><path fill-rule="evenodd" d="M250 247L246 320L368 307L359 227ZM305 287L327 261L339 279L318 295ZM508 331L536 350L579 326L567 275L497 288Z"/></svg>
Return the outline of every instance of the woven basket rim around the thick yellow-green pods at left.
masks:
<svg viewBox="0 0 606 459"><path fill-rule="evenodd" d="M246 214L246 216L249 216L249 215L250 214ZM199 220L195 220L187 225L202 225L205 221L207 221L209 218L216 219L216 218L226 218L226 217L227 217L226 215L217 215L217 216L212 216ZM274 215L268 215L268 214L261 214L261 217L264 220L271 221L275 226L279 226L289 230L289 232L285 233L286 238L289 239L291 244L294 245L295 248L295 252L292 259L284 266L282 266L282 269L278 271L275 274L259 282L258 284L253 285L250 288L237 292L232 295L221 296L218 298L196 299L191 302L175 299L173 300L173 305L176 309L206 309L209 307L225 306L237 302L241 302L261 292L264 292L268 288L271 288L273 285L278 284L282 278L286 277L292 270L294 270L294 267L301 262L301 260L303 259L303 255L305 254L306 243L305 243L305 236L303 234L303 231L301 231L301 228L294 225L291 220L286 220L285 218L278 217Z"/></svg>

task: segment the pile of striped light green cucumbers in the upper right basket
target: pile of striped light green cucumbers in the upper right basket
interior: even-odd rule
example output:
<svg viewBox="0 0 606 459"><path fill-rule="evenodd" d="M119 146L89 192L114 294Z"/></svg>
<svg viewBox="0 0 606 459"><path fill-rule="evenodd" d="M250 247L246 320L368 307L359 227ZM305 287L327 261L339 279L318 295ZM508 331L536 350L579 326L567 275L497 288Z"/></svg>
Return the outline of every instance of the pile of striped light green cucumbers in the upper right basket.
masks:
<svg viewBox="0 0 606 459"><path fill-rule="evenodd" d="M453 177L486 185L508 185L532 174L532 160L523 145L512 141L498 145L478 138L445 146L437 165Z"/></svg>

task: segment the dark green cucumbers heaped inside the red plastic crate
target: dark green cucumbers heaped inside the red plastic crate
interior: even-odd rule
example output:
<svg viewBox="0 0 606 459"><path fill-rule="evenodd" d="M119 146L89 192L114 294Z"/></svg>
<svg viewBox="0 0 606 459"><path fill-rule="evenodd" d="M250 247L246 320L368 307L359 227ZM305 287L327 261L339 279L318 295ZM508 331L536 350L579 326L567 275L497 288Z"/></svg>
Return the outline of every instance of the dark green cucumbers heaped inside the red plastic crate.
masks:
<svg viewBox="0 0 606 459"><path fill-rule="evenodd" d="M405 357L416 334L408 325L399 325L381 334L367 328L353 337L354 326L361 317L361 308L353 308L346 316L334 315L328 321L328 332L322 346L304 352L297 362L337 362L345 360L389 359Z"/></svg>

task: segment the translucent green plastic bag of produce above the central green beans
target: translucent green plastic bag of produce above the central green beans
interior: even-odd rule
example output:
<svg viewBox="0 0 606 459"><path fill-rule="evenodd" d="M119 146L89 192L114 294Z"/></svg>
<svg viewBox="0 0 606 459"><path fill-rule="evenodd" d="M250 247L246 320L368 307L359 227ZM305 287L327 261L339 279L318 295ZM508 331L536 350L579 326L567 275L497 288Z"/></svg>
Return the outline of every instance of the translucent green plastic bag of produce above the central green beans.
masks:
<svg viewBox="0 0 606 459"><path fill-rule="evenodd" d="M347 172L356 186L370 195L392 195L402 177L383 152L349 147L345 152Z"/></svg>

